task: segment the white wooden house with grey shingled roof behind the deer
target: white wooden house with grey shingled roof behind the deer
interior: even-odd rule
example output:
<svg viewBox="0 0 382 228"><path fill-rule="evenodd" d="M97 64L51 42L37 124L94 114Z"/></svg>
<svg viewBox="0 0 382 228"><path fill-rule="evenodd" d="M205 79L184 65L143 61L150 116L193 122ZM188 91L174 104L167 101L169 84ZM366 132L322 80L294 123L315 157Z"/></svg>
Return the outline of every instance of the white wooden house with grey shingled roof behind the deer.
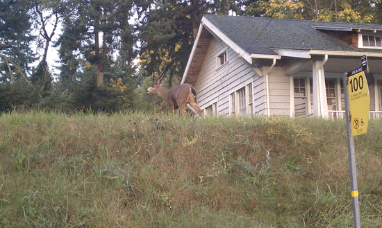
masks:
<svg viewBox="0 0 382 228"><path fill-rule="evenodd" d="M182 83L206 115L342 118L342 77L362 55L382 117L382 25L205 15Z"/></svg>

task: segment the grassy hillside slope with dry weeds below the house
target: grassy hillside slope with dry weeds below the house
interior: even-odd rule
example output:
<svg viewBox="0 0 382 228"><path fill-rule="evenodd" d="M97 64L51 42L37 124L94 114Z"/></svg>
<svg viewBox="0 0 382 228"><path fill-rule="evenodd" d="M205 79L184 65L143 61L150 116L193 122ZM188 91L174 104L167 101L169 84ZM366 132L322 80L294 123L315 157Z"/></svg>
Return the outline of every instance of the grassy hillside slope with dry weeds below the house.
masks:
<svg viewBox="0 0 382 228"><path fill-rule="evenodd" d="M382 121L356 137L382 227ZM0 227L353 227L344 122L0 116Z"/></svg>

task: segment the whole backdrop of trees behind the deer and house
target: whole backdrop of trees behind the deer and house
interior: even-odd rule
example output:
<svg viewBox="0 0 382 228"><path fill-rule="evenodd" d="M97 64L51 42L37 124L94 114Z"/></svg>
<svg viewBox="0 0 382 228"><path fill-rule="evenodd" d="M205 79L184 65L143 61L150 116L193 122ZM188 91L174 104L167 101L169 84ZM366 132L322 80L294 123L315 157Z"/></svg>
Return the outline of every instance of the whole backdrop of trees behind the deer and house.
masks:
<svg viewBox="0 0 382 228"><path fill-rule="evenodd" d="M113 112L132 107L165 111L167 107L158 96L146 94L151 83L145 78L165 72L169 87L180 81L204 14L381 24L381 12L381 0L1 1L0 93L26 92L24 100L22 94L10 96L16 100L3 96L1 110L22 105L65 112L90 108ZM43 26L54 24L56 19L63 28L55 33L59 34L57 42L56 37L50 37L52 31ZM40 33L37 37L31 34L33 28ZM36 61L32 41L38 50L44 46L48 51L44 44L49 43L59 49L58 82L52 84L51 66L44 61L47 52L38 60L36 70L29 67ZM10 69L4 56L15 62L9 64ZM138 64L134 61L137 58ZM21 69L16 71L16 65ZM35 89L9 84L10 76L19 80L20 72ZM95 78L102 76L105 85L95 88Z"/></svg>

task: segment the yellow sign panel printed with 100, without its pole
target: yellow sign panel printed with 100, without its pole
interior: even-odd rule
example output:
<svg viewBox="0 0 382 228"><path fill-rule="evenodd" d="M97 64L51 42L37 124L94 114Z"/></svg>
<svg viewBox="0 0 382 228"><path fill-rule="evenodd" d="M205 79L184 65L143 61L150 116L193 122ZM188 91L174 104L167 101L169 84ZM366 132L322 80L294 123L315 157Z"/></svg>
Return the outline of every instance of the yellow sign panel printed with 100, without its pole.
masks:
<svg viewBox="0 0 382 228"><path fill-rule="evenodd" d="M365 134L369 124L370 98L365 71L348 77L351 135Z"/></svg>

